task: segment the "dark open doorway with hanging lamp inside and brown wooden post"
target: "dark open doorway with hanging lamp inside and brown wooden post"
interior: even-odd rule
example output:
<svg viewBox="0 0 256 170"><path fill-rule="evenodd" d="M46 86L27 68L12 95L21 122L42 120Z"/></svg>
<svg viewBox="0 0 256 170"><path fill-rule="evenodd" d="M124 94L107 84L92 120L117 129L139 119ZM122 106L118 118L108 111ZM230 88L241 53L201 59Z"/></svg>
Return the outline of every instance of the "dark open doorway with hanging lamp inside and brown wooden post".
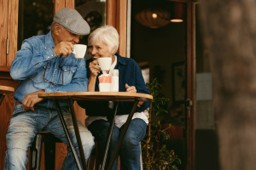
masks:
<svg viewBox="0 0 256 170"><path fill-rule="evenodd" d="M162 2L164 7L160 6ZM165 18L164 20L154 20L153 18L159 17L152 12L157 10L156 8L165 8L173 15L176 15L175 8L182 8L183 22L166 21L162 15L160 17ZM161 14L166 14L160 10ZM128 14L129 11L128 1ZM183 110L182 114L176 117L177 124L183 129L183 138L172 139L166 143L166 147L170 147L174 152L176 150L177 156L182 160L182 165L178 166L179 170L195 169L194 14L192 0L150 0L147 3L143 0L131 0L131 15L127 17L131 19L131 51L127 54L131 59L135 59L150 78L158 78L162 85L159 93L169 99L165 109L170 112L175 110L173 108L181 107ZM129 34L129 20L127 21ZM129 49L129 46L127 48ZM170 115L152 115L152 119L154 122L165 122L170 119ZM175 148L173 145L176 145Z"/></svg>

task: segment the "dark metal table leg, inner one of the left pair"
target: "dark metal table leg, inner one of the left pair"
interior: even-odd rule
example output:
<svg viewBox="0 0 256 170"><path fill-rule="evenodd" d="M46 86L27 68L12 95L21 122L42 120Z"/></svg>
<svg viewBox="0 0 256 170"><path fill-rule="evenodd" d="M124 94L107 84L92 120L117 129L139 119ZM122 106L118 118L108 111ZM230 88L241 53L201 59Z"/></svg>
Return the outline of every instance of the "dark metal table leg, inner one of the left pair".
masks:
<svg viewBox="0 0 256 170"><path fill-rule="evenodd" d="M78 122L77 122L77 116L76 116L74 108L73 108L73 99L71 99L71 98L67 98L67 99L68 99L68 105L70 107L70 111L71 111L71 115L72 115L73 127L74 127L75 134L76 134L76 137L77 137L77 142L79 144L79 152L80 152L82 164L83 164L84 170L87 170L87 165L86 165L85 156L84 156L83 144L82 144L80 133L79 133L79 126L78 126Z"/></svg>

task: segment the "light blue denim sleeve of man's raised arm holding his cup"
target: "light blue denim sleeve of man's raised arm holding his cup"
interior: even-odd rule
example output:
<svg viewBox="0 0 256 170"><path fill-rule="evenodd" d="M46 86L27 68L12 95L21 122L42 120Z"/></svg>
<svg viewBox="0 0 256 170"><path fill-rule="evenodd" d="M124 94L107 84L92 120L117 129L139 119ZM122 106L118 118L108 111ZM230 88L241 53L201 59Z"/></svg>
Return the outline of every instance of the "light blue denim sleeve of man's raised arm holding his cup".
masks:
<svg viewBox="0 0 256 170"><path fill-rule="evenodd" d="M32 42L25 40L13 60L10 76L14 80L25 80L47 65L48 60L55 57L56 55L52 48L47 48L40 52L32 46Z"/></svg>

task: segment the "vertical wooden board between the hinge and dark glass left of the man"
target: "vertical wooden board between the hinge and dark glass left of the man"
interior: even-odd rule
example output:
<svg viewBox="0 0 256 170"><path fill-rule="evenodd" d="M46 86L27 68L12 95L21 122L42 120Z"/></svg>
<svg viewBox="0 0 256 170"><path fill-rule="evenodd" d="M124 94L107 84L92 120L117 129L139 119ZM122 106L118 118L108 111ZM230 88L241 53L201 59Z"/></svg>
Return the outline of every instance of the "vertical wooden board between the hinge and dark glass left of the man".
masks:
<svg viewBox="0 0 256 170"><path fill-rule="evenodd" d="M11 66L17 53L18 41L18 13L19 0L9 0L9 17L8 17L8 39L9 54L7 54L7 66Z"/></svg>

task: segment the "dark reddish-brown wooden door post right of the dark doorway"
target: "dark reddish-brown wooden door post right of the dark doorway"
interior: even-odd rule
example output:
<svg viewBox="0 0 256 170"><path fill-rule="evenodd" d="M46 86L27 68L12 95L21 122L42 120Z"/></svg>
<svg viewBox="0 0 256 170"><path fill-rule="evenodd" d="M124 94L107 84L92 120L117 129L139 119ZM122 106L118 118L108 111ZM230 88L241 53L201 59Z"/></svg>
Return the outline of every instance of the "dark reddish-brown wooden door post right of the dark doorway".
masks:
<svg viewBox="0 0 256 170"><path fill-rule="evenodd" d="M195 2L196 0L168 0L187 4L187 99L192 101L186 108L187 170L195 170ZM187 105L187 104L186 104Z"/></svg>

